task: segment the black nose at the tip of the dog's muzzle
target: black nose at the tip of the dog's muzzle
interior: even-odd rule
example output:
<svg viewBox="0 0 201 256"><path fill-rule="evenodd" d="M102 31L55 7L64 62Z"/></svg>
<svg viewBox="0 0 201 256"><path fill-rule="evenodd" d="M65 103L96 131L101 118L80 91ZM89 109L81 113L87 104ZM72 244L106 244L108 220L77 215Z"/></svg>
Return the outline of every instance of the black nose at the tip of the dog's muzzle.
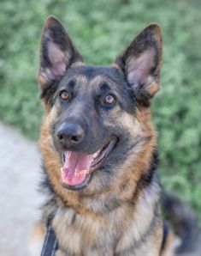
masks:
<svg viewBox="0 0 201 256"><path fill-rule="evenodd" d="M84 131L80 125L74 123L63 123L57 131L59 143L64 146L74 146L80 143L84 137Z"/></svg>

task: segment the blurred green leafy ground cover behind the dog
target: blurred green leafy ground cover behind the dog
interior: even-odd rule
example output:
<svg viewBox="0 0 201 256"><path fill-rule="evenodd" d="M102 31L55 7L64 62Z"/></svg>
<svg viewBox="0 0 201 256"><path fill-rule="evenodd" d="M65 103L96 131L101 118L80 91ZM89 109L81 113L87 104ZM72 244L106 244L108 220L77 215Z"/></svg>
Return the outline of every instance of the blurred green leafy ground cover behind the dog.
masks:
<svg viewBox="0 0 201 256"><path fill-rule="evenodd" d="M161 162L158 173L166 190L191 204L201 222L200 10L199 0L0 0L0 120L14 127L3 126L0 140L12 140L15 130L25 144L24 137L38 139L43 114L37 82L38 47L48 15L62 21L90 64L111 64L142 28L158 22L163 30L162 87L152 102ZM21 152L19 147L11 145L8 151ZM29 162L32 154L27 154ZM15 161L24 160L21 156L23 153ZM1 162L8 157L1 157ZM10 180L12 167L4 175ZM35 182L33 176L26 177ZM24 196L27 186L28 182L21 185ZM17 193L15 190L16 197ZM15 200L10 197L9 204L15 205Z"/></svg>

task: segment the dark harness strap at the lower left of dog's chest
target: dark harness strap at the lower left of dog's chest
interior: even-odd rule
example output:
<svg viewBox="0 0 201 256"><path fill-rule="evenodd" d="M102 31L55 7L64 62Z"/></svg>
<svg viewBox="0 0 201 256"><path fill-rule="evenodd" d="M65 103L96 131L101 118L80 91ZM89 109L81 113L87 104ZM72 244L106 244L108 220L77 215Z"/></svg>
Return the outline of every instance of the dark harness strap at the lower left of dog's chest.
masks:
<svg viewBox="0 0 201 256"><path fill-rule="evenodd" d="M47 233L44 239L44 246L41 256L54 256L57 248L58 241L56 239L55 232L52 229L50 222L48 222Z"/></svg>

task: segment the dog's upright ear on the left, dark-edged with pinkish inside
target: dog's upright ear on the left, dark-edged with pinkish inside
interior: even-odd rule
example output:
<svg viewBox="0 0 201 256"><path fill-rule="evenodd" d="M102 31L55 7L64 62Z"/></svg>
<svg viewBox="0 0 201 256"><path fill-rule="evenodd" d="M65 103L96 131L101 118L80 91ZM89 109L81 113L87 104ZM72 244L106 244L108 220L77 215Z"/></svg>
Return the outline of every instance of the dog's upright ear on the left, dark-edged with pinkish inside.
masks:
<svg viewBox="0 0 201 256"><path fill-rule="evenodd" d="M51 84L75 62L82 62L80 53L62 23L54 16L49 16L44 23L41 38L38 81L41 85Z"/></svg>

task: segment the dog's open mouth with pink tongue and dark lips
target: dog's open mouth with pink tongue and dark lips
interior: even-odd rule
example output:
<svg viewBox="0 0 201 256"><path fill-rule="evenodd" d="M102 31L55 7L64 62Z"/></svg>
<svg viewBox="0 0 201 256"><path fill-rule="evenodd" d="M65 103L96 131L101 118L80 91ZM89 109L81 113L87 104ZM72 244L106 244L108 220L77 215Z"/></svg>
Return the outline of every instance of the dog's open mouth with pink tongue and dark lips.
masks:
<svg viewBox="0 0 201 256"><path fill-rule="evenodd" d="M85 187L90 180L92 172L97 169L103 160L115 148L117 137L112 137L109 143L97 152L85 155L73 151L62 153L62 186L68 189Z"/></svg>

